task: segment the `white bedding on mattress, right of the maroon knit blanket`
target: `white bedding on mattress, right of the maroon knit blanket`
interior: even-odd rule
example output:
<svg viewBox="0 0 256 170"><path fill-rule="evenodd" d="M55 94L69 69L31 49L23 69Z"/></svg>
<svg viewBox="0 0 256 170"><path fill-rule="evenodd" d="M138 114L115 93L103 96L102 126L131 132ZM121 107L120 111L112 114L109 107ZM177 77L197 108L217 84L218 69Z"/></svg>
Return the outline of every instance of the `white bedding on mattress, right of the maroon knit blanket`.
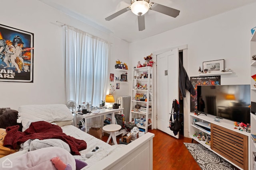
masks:
<svg viewBox="0 0 256 170"><path fill-rule="evenodd" d="M87 143L87 149L81 150L80 154L81 156L74 156L76 159L82 160L88 164L84 169L89 168L90 165L96 164L96 162L102 160L112 152L119 150L120 148L126 146L126 145L109 145L105 143L104 141L101 141L100 139L97 139L96 137L89 135L88 133L85 133L84 131L81 131L77 127L74 127L73 125L67 125L61 127L63 132L66 133L66 135L70 135L76 139L81 139L86 141ZM95 147L99 147L98 150L91 156L90 158L86 158L86 153L91 152Z"/></svg>

